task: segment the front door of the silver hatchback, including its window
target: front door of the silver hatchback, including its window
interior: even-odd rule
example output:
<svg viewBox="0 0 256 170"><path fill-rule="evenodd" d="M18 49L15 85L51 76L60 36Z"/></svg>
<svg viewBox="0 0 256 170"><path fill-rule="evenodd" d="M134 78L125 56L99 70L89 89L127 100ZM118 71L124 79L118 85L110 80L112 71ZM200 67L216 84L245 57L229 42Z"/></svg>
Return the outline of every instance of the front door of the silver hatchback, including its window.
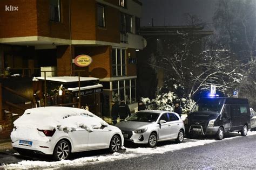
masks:
<svg viewBox="0 0 256 170"><path fill-rule="evenodd" d="M164 120L166 123L159 124L159 137L158 140L170 139L171 138L171 122L167 113L163 114L159 121Z"/></svg>

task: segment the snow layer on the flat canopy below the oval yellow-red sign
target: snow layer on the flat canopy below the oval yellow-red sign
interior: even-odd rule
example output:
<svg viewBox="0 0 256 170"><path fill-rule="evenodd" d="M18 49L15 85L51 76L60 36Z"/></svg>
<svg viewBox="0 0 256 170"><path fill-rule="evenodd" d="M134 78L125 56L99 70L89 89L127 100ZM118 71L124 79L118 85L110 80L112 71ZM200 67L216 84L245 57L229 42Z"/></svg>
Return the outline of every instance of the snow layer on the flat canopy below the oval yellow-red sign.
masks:
<svg viewBox="0 0 256 170"><path fill-rule="evenodd" d="M44 80L44 77L36 77L36 79ZM64 82L64 83L77 82L78 81L78 76L46 77L46 80ZM80 77L80 81L92 81L92 80L99 80L99 79L95 78L95 77Z"/></svg>

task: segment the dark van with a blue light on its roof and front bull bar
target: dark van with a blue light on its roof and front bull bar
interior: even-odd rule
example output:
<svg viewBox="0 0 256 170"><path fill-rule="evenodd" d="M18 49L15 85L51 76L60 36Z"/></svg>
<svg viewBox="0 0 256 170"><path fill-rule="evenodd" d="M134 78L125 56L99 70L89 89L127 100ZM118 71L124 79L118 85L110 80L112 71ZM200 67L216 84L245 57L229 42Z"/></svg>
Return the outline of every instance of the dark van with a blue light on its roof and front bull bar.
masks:
<svg viewBox="0 0 256 170"><path fill-rule="evenodd" d="M221 140L225 132L238 131L247 135L250 107L245 98L200 98L185 119L186 133L216 135Z"/></svg>

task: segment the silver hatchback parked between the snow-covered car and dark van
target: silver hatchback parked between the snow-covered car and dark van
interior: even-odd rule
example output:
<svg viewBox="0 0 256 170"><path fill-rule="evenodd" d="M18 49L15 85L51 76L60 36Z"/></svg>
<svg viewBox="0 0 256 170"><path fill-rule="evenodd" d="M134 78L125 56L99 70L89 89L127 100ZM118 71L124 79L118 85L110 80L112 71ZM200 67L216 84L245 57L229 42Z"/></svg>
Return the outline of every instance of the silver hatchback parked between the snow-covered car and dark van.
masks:
<svg viewBox="0 0 256 170"><path fill-rule="evenodd" d="M158 141L176 139L183 142L185 128L178 114L169 111L143 110L116 124L125 140L137 144L157 145Z"/></svg>

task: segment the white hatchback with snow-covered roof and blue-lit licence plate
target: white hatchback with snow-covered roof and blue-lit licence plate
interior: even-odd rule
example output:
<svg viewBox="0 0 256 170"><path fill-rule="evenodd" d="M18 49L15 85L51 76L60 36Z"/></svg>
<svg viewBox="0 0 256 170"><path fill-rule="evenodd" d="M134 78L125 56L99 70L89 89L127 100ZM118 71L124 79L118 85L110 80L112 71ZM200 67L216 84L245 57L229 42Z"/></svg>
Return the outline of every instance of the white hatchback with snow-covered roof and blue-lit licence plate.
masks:
<svg viewBox="0 0 256 170"><path fill-rule="evenodd" d="M14 122L12 146L19 154L51 154L55 160L70 153L109 148L117 152L124 144L120 129L91 112L68 107L25 110Z"/></svg>

